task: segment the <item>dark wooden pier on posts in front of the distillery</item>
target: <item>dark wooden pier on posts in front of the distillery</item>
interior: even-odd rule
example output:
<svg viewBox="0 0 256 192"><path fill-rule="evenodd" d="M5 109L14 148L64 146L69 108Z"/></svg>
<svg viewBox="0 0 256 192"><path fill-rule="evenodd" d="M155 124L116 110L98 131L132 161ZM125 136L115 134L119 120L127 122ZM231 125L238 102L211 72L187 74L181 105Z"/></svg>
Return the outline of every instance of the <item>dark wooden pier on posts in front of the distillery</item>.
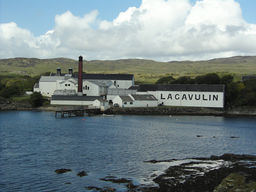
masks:
<svg viewBox="0 0 256 192"><path fill-rule="evenodd" d="M88 113L88 115L90 116L91 113L96 113L100 111L100 106L61 107L58 108L55 112L55 117L57 117L57 113L61 113L61 117L64 117L64 114L68 114L69 117L71 117L71 115L85 116L85 113Z"/></svg>

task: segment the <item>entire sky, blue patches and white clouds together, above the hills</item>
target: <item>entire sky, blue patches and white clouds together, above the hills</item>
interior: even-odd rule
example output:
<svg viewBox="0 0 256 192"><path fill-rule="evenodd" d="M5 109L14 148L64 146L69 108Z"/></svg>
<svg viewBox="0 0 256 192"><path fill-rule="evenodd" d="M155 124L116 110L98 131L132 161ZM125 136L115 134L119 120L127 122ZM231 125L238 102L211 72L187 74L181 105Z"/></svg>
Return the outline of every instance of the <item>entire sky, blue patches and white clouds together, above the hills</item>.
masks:
<svg viewBox="0 0 256 192"><path fill-rule="evenodd" d="M255 8L256 0L0 0L0 59L255 55Z"/></svg>

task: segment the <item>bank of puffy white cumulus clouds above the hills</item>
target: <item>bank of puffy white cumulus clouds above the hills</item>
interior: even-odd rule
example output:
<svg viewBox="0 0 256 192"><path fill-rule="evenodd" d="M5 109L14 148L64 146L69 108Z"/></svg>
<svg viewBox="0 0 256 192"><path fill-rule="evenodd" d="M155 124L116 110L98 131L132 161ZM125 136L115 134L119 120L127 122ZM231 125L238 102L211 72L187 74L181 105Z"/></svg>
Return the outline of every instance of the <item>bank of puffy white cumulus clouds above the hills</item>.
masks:
<svg viewBox="0 0 256 192"><path fill-rule="evenodd" d="M67 57L86 60L139 58L205 60L255 55L256 25L235 0L142 0L113 21L99 12L55 16L55 27L34 37L16 23L0 24L0 58Z"/></svg>

